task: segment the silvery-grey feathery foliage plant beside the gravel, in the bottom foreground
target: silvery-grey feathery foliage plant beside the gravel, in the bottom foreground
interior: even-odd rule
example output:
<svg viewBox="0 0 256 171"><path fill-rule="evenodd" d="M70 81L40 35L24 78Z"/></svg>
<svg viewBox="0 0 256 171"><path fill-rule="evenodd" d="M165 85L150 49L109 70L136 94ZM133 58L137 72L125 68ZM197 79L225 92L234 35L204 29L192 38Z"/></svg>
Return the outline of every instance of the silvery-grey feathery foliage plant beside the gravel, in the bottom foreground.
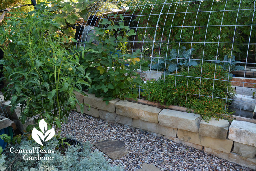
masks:
<svg viewBox="0 0 256 171"><path fill-rule="evenodd" d="M16 144L13 147L14 149L33 149L35 145L34 141L23 140L21 144ZM56 149L58 145L58 141L52 139L44 146L44 149ZM17 169L17 171L124 171L123 167L111 166L102 152L90 152L90 147L89 142L84 143L83 152L79 152L79 146L68 146L64 153L55 150L54 153L44 154L47 157L54 156L53 160L39 161L25 161L23 153L10 153L5 150L5 154L0 156L0 170L6 170L12 164L11 168L13 170ZM29 156L38 155L37 153L26 154ZM11 170L7 169L6 171Z"/></svg>

